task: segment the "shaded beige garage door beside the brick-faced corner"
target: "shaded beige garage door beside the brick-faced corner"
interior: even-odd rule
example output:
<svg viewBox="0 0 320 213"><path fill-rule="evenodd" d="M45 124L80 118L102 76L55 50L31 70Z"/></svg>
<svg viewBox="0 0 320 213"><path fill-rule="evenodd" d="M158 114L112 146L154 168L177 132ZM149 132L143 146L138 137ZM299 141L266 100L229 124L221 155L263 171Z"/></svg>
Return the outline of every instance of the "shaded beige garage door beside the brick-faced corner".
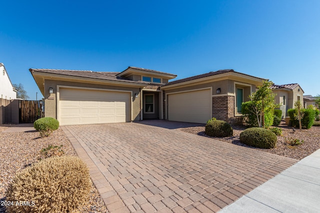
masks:
<svg viewBox="0 0 320 213"><path fill-rule="evenodd" d="M191 123L206 123L211 118L211 90L168 95L168 120Z"/></svg>

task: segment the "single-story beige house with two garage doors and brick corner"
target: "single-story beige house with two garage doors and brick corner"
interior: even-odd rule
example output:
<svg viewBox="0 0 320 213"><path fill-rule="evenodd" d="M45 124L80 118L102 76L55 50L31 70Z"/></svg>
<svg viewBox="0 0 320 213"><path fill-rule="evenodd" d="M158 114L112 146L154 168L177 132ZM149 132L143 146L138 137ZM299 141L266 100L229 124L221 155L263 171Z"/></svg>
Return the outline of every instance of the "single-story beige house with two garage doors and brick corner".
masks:
<svg viewBox="0 0 320 213"><path fill-rule="evenodd" d="M44 97L45 117L61 125L144 119L206 123L241 121L241 103L263 78L218 70L170 81L176 75L129 66L122 72L29 69Z"/></svg>

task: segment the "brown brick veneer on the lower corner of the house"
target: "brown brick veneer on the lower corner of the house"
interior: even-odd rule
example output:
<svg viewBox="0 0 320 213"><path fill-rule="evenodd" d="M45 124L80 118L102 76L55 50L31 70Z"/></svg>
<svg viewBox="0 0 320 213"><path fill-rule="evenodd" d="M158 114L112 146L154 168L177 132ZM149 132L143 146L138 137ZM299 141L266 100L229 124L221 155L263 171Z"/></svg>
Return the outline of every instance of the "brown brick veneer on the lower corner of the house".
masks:
<svg viewBox="0 0 320 213"><path fill-rule="evenodd" d="M212 97L212 117L230 124L242 122L242 117L234 117L234 96Z"/></svg>

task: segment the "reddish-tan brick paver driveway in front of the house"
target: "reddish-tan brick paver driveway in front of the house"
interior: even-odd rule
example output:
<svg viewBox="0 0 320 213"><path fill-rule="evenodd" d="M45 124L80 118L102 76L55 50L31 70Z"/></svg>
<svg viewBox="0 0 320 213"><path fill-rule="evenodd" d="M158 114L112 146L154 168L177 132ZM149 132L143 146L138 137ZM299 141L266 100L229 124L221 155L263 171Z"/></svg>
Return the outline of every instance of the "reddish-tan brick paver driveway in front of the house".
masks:
<svg viewBox="0 0 320 213"><path fill-rule="evenodd" d="M217 212L297 162L144 123L62 127L111 213Z"/></svg>

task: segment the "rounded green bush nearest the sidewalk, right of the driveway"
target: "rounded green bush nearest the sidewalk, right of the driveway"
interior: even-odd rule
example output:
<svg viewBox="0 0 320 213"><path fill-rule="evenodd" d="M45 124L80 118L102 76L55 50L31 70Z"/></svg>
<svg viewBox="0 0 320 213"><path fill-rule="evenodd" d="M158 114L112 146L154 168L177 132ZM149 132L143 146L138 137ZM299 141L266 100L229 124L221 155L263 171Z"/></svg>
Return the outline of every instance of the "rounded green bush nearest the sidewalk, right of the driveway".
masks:
<svg viewBox="0 0 320 213"><path fill-rule="evenodd" d="M240 142L252 147L271 149L275 147L276 135L263 128L252 127L240 133Z"/></svg>

